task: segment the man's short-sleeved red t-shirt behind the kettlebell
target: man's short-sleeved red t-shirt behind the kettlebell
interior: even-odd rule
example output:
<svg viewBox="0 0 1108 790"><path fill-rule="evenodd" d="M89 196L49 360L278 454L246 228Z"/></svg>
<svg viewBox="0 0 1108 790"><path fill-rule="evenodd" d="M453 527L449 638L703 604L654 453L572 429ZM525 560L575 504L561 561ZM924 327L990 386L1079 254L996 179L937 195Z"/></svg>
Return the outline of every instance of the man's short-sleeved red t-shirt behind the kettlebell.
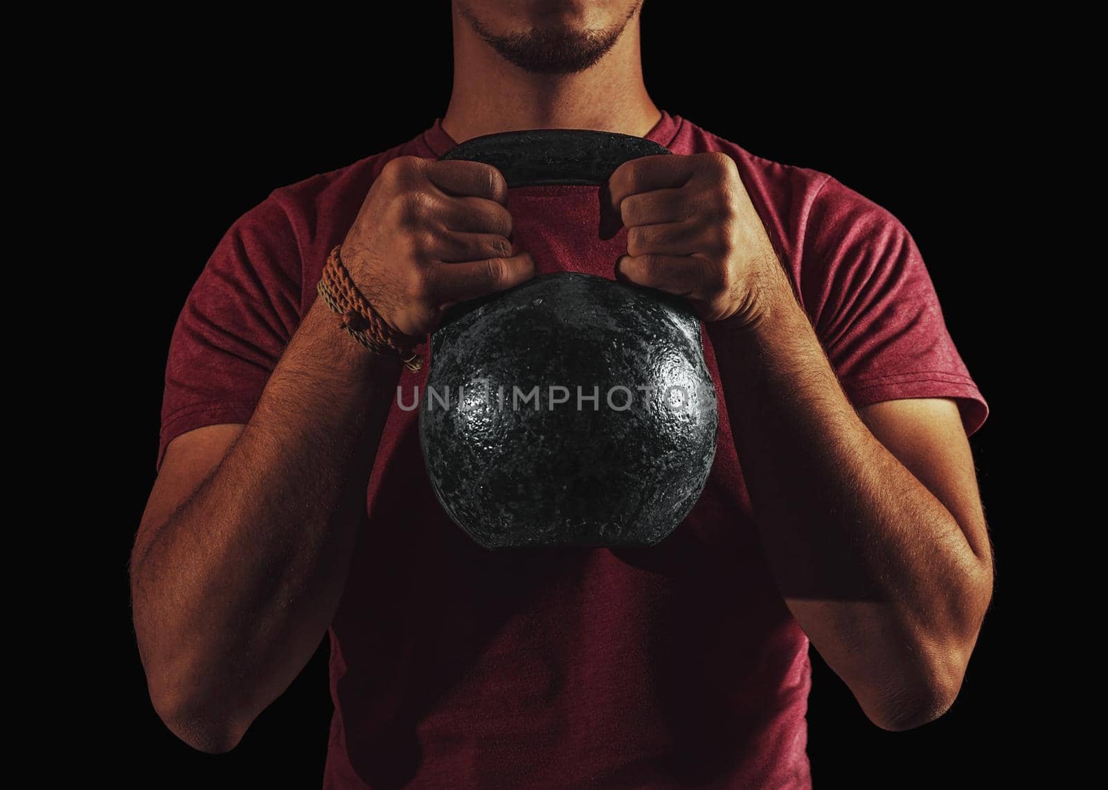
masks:
<svg viewBox="0 0 1108 790"><path fill-rule="evenodd" d="M855 406L955 398L966 431L981 427L987 404L890 212L676 115L647 136L735 160ZM437 120L235 222L173 334L158 465L174 437L250 419L386 162L452 145ZM626 252L626 230L595 237L596 187L516 188L509 207L543 273L612 277ZM404 391L425 375L406 371ZM767 567L719 397L707 486L660 545L524 553L488 552L453 525L427 480L418 412L393 403L329 632L325 788L809 787L808 638Z"/></svg>

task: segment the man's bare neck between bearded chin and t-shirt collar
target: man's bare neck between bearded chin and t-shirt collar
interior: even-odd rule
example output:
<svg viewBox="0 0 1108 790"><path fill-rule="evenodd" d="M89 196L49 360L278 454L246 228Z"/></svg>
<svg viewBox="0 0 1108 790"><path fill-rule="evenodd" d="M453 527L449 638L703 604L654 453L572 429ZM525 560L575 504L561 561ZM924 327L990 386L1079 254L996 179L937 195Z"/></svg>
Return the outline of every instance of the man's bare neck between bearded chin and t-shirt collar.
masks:
<svg viewBox="0 0 1108 790"><path fill-rule="evenodd" d="M454 142L521 129L596 129L645 136L661 113L643 82L637 21L589 69L532 74L454 17L454 84L442 129Z"/></svg>

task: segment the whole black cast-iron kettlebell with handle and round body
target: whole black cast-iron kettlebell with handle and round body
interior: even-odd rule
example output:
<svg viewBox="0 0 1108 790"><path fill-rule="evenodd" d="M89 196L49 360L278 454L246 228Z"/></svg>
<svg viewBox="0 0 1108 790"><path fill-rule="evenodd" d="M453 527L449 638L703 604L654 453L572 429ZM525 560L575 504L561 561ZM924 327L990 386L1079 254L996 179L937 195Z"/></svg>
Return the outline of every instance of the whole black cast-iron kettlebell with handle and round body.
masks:
<svg viewBox="0 0 1108 790"><path fill-rule="evenodd" d="M632 135L532 130L442 156L509 187L607 182L669 152ZM535 277L452 308L431 336L420 447L435 496L486 548L649 546L696 504L716 390L684 300L592 275Z"/></svg>

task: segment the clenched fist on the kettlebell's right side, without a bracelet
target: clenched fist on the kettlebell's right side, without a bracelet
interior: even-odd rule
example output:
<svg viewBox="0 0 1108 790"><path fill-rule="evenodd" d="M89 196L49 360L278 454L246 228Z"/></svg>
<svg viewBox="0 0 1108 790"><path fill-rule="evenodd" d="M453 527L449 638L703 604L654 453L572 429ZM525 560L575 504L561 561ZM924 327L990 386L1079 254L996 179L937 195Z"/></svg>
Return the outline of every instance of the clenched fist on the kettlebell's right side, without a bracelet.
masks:
<svg viewBox="0 0 1108 790"><path fill-rule="evenodd" d="M612 174L608 191L606 212L627 227L617 277L683 296L705 321L735 327L757 324L789 288L727 154L633 160Z"/></svg>

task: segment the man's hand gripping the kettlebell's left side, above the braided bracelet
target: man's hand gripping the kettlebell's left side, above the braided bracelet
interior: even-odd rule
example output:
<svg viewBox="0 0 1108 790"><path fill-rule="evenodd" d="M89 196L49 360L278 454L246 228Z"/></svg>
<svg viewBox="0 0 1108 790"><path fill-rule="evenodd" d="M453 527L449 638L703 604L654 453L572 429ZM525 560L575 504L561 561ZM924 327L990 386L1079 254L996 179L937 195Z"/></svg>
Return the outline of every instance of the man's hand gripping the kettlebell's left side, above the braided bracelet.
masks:
<svg viewBox="0 0 1108 790"><path fill-rule="evenodd" d="M507 184L495 167L400 156L375 179L339 254L381 318L420 337L451 305L534 276L511 235Z"/></svg>

